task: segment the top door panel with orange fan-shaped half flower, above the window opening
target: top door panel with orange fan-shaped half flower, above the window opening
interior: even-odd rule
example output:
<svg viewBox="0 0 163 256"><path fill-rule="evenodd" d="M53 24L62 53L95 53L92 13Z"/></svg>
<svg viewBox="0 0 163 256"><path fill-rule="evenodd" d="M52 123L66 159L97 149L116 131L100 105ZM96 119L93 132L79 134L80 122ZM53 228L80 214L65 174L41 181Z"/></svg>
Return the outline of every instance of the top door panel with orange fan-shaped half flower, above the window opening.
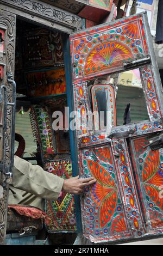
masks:
<svg viewBox="0 0 163 256"><path fill-rule="evenodd" d="M73 83L120 72L124 61L147 54L142 20L140 14L70 36Z"/></svg>

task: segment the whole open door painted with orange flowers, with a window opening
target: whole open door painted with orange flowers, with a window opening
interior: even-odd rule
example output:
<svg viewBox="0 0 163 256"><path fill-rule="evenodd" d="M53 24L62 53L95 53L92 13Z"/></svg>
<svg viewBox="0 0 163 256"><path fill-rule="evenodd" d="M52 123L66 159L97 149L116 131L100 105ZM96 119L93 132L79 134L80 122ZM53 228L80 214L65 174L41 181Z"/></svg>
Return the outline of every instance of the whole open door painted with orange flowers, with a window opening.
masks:
<svg viewBox="0 0 163 256"><path fill-rule="evenodd" d="M163 155L155 136L162 134L163 93L147 14L72 34L70 44L79 171L97 179L81 199L83 233L95 243L159 236ZM111 131L95 129L96 117L89 129L83 115L99 104L91 81L134 68L140 70L148 120L117 126L115 96L104 84Z"/></svg>

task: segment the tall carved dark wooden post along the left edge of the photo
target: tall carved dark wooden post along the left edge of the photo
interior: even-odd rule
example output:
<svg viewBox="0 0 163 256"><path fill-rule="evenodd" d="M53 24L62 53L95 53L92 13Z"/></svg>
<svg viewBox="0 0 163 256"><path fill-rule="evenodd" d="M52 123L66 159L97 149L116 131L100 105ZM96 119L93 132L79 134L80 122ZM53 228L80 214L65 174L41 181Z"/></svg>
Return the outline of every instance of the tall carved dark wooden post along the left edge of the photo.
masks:
<svg viewBox="0 0 163 256"><path fill-rule="evenodd" d="M16 16L0 5L0 245L5 238L8 188L14 161L15 26Z"/></svg>

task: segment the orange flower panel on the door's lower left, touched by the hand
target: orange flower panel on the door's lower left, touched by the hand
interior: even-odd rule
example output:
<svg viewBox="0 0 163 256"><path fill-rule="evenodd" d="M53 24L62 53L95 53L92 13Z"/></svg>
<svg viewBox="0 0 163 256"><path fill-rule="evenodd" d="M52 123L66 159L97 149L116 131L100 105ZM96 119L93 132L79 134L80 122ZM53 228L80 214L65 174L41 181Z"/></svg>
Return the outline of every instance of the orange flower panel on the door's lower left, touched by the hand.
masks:
<svg viewBox="0 0 163 256"><path fill-rule="evenodd" d="M111 148L85 149L82 159L84 174L97 180L82 197L84 235L95 243L130 237Z"/></svg>

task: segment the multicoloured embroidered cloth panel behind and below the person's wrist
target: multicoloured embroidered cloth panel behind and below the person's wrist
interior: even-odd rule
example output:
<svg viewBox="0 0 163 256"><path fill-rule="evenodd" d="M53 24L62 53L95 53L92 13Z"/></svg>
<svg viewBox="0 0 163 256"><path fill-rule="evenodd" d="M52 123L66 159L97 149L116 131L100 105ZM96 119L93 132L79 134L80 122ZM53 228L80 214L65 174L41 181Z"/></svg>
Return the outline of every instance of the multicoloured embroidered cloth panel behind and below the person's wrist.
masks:
<svg viewBox="0 0 163 256"><path fill-rule="evenodd" d="M70 160L46 162L45 169L47 172L64 179L72 177ZM77 230L72 194L61 192L57 201L46 200L45 208L46 214L51 218L51 223L46 225L48 232L55 233Z"/></svg>

